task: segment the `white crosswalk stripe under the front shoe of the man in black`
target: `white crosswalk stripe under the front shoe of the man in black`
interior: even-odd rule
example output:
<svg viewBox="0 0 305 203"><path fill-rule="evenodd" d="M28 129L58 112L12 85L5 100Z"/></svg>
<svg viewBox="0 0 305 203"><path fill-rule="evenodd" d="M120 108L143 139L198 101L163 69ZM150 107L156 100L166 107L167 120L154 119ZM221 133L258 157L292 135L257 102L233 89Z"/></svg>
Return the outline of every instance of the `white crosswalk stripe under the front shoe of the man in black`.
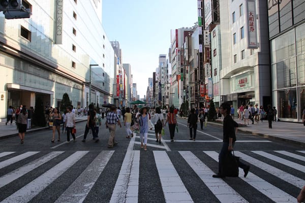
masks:
<svg viewBox="0 0 305 203"><path fill-rule="evenodd" d="M212 175L215 173L192 152L179 151L179 153L220 202L248 202L223 179L213 178Z"/></svg>

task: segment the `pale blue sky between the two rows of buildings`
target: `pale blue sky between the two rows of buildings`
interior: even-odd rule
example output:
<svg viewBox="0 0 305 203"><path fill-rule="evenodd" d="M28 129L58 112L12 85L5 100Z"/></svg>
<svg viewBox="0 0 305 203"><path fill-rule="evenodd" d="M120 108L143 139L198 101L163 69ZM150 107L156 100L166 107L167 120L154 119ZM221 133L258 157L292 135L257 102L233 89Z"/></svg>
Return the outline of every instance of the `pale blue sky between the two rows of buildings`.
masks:
<svg viewBox="0 0 305 203"><path fill-rule="evenodd" d="M103 0L102 24L110 41L118 41L123 63L130 63L140 98L168 54L170 29L192 27L198 19L196 0Z"/></svg>

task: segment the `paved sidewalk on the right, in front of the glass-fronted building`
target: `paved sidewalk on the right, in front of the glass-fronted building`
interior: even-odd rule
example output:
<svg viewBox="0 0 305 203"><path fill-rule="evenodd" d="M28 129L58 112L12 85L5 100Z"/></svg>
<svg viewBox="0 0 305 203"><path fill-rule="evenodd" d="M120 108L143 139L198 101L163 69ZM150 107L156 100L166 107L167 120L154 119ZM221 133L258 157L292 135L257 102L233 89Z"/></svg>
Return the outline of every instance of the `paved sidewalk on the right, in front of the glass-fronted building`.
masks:
<svg viewBox="0 0 305 203"><path fill-rule="evenodd" d="M235 121L238 124L245 124L243 120L235 119ZM208 124L222 125L222 119L218 119L217 122L208 122ZM254 124L252 124L252 121L249 121L249 125L240 126L238 130L305 146L305 126L303 123L272 122L272 129L269 129L267 120L259 121L258 123L254 122Z"/></svg>

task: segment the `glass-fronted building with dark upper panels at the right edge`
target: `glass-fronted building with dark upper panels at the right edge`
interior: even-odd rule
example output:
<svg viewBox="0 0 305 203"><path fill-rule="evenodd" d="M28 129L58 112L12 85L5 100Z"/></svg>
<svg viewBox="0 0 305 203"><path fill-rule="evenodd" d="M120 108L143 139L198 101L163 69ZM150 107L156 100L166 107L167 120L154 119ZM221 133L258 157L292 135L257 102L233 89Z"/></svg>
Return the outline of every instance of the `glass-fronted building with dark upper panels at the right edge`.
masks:
<svg viewBox="0 0 305 203"><path fill-rule="evenodd" d="M305 2L269 1L268 9L273 105L279 119L298 122L305 108Z"/></svg>

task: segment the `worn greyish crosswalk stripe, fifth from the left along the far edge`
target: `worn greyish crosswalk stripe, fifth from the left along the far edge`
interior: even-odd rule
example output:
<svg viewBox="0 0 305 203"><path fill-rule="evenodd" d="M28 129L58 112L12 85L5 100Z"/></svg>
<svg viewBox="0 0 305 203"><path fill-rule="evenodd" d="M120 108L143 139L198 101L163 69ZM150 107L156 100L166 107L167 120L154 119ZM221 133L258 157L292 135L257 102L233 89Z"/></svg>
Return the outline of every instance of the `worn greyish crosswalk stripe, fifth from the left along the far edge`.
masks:
<svg viewBox="0 0 305 203"><path fill-rule="evenodd" d="M83 202L94 184L97 182L113 153L114 151L102 151L69 186L69 188L59 196L55 203Z"/></svg>

